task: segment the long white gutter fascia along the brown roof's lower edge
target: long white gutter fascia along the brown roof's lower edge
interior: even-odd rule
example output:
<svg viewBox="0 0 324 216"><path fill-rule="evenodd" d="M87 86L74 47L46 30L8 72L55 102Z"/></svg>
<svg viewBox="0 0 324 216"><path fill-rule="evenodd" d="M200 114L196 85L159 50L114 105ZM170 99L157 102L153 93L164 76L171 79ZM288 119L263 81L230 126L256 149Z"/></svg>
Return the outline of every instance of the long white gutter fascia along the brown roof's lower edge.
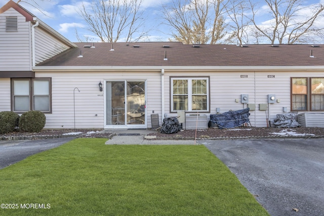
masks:
<svg viewBox="0 0 324 216"><path fill-rule="evenodd" d="M35 66L35 72L107 70L323 71L324 66Z"/></svg>

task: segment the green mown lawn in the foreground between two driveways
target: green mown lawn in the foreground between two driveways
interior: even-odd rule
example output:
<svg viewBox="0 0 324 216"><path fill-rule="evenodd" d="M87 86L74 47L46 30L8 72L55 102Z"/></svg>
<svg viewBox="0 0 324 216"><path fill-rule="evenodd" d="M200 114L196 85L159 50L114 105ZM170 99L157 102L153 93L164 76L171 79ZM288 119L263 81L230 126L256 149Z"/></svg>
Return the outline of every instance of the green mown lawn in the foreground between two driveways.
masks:
<svg viewBox="0 0 324 216"><path fill-rule="evenodd" d="M76 139L0 170L0 203L18 204L0 215L269 215L205 146L105 141Z"/></svg>

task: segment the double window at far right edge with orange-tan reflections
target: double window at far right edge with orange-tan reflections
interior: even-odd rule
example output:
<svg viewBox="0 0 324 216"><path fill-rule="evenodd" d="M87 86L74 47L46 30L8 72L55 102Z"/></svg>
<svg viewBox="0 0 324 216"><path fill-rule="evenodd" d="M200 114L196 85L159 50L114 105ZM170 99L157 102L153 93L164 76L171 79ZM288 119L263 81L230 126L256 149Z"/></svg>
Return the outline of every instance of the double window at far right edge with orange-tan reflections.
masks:
<svg viewBox="0 0 324 216"><path fill-rule="evenodd" d="M291 87L292 111L324 110L323 77L293 77Z"/></svg>

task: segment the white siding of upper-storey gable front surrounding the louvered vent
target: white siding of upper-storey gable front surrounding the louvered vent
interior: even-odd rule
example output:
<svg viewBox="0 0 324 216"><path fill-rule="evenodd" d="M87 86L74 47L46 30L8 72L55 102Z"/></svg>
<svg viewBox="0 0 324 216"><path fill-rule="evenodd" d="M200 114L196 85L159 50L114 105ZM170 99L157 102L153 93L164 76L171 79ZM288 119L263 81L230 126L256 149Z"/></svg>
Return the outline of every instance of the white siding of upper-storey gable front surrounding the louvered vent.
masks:
<svg viewBox="0 0 324 216"><path fill-rule="evenodd" d="M15 16L18 31L6 31L6 17ZM3 71L30 70L30 25L26 18L14 9L0 14L0 68Z"/></svg>

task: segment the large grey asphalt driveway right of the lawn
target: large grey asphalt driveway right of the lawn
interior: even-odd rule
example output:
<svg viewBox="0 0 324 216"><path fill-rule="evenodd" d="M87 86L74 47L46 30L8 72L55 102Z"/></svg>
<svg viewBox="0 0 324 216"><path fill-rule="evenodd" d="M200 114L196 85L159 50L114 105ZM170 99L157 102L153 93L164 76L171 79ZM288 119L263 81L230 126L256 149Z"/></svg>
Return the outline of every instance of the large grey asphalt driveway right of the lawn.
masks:
<svg viewBox="0 0 324 216"><path fill-rule="evenodd" d="M324 215L324 139L199 141L272 215Z"/></svg>

